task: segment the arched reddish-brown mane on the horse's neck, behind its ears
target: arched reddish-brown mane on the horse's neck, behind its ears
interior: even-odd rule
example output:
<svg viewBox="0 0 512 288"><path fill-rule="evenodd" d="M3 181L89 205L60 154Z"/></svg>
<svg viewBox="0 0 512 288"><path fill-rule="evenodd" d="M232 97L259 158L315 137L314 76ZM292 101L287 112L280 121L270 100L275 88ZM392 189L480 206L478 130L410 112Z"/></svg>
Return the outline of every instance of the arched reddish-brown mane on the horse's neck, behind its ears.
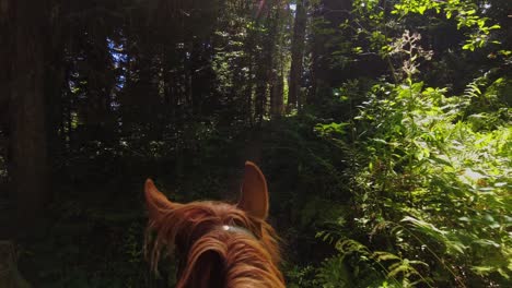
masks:
<svg viewBox="0 0 512 288"><path fill-rule="evenodd" d="M284 286L277 263L260 241L244 233L212 230L191 247L176 287Z"/></svg>

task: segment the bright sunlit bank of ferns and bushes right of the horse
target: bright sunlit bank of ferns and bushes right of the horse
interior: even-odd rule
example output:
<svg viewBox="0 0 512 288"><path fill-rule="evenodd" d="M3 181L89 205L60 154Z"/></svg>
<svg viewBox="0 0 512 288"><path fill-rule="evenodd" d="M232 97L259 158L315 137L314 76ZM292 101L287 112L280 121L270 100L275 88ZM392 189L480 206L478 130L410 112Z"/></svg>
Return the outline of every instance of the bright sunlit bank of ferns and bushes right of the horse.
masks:
<svg viewBox="0 0 512 288"><path fill-rule="evenodd" d="M382 266L385 279L405 287L511 277L510 109L494 101L500 109L474 113L503 81L487 89L476 81L452 97L422 83L372 88L357 117L366 166L354 171L354 224L395 252L346 240L342 254L394 260Z"/></svg>

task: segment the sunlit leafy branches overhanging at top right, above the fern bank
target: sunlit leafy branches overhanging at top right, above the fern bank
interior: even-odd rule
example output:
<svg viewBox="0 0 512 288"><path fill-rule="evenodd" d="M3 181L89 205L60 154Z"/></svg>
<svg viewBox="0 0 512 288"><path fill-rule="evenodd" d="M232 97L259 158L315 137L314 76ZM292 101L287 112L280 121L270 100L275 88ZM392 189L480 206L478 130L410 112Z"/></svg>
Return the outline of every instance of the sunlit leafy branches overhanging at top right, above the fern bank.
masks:
<svg viewBox="0 0 512 288"><path fill-rule="evenodd" d="M455 70L455 73L463 73L462 70L467 69L465 70L467 74L475 71L472 69L475 56L472 58L468 52L487 53L489 59L507 59L504 53L499 52L503 49L500 44L507 43L508 29L500 26L505 22L490 16L492 13L490 11L500 14L501 12L498 11L508 9L502 5L494 1L482 3L475 0L356 0L350 7L351 17L342 21L339 25L340 31L328 32L331 26L325 24L325 19L322 19L322 25L314 25L314 27L323 27L318 33L329 35L328 38L326 37L328 43L325 47L336 48L331 49L329 59L338 59L337 64L348 70L357 68L363 69L365 73L374 73L387 65L392 76L395 76L397 73L394 67L403 67L403 61L407 59L402 59L396 55L393 57L391 52L393 45L398 44L395 39L399 39L404 31L408 29L412 35L427 36L428 39L421 43L429 49L435 48L433 57L438 59L444 58L447 61L450 58L447 58L446 50L456 53L455 58L459 60L467 57L464 67L447 68ZM400 50L400 52L405 51L405 49ZM374 56L380 56L381 61ZM484 61L481 56L476 56L480 58L478 61ZM439 64L450 65L444 61L433 63L433 65ZM409 70L411 71L415 70ZM437 74L435 81L440 81L440 76L445 76L459 82L459 80L453 80L454 75L443 75L443 73L449 73L446 69L439 68L434 73ZM374 74L374 76L380 76L380 74ZM347 77L350 79L351 74L345 75L345 79ZM458 77L464 77L464 74ZM399 83L400 79L395 79L394 82Z"/></svg>

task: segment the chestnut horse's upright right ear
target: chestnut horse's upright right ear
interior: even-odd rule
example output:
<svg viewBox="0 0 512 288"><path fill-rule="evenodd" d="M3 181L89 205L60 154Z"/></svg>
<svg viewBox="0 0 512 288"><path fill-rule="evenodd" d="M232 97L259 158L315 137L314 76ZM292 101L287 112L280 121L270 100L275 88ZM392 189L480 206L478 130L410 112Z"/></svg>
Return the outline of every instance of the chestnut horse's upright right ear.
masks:
<svg viewBox="0 0 512 288"><path fill-rule="evenodd" d="M267 181L261 170L251 161L245 163L244 181L242 183L242 195L238 208L247 214L266 219L268 215L268 190Z"/></svg>

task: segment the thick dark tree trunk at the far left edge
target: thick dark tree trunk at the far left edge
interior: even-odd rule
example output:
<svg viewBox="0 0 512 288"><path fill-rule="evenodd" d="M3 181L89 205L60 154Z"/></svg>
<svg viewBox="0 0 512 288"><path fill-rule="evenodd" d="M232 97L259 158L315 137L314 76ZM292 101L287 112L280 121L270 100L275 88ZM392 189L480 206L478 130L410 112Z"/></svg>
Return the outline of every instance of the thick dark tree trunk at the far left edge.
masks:
<svg viewBox="0 0 512 288"><path fill-rule="evenodd" d="M11 0L15 24L12 62L12 189L16 227L30 232L49 200L45 119L45 44L47 0Z"/></svg>

